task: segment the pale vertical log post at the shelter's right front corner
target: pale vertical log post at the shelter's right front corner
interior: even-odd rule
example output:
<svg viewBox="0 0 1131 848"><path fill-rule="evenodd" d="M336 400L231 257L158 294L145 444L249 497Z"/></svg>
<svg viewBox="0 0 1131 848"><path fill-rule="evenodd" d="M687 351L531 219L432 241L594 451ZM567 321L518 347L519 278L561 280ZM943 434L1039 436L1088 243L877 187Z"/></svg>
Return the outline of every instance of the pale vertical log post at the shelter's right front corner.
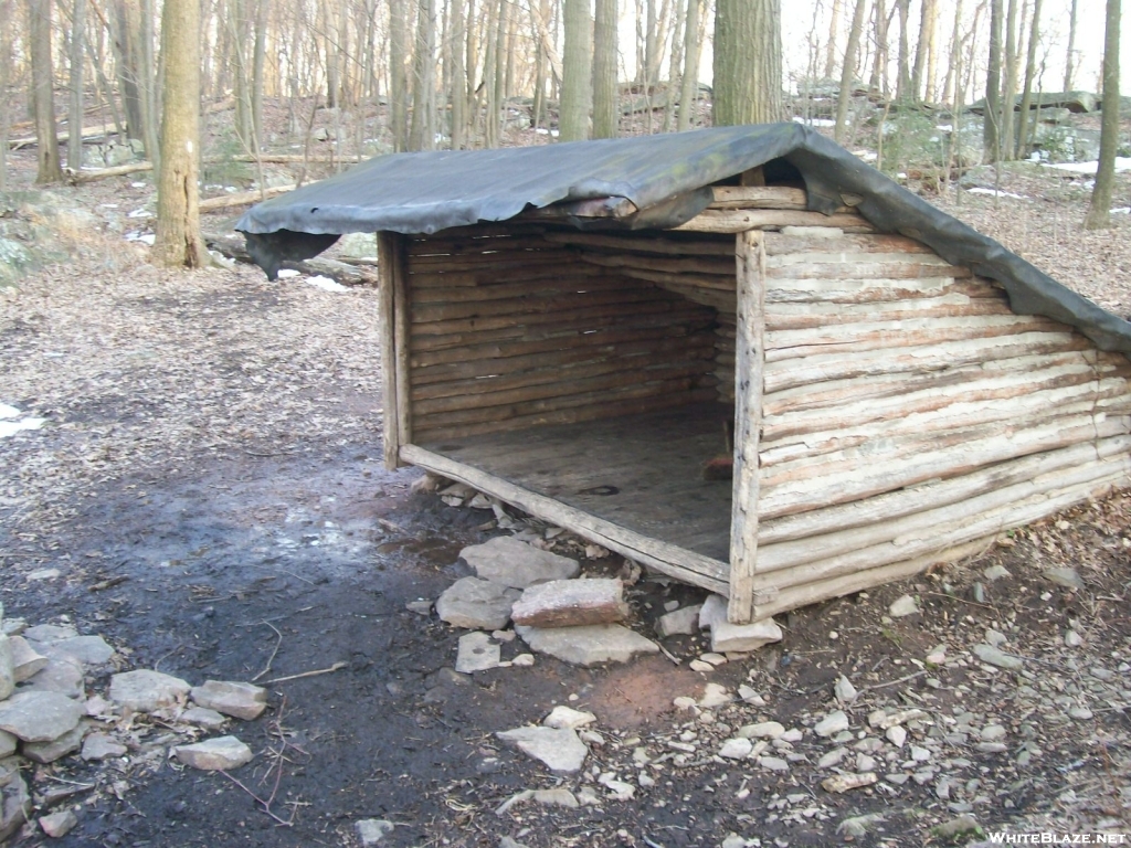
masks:
<svg viewBox="0 0 1131 848"><path fill-rule="evenodd" d="M765 265L762 233L735 236L739 313L735 351L734 494L731 504L731 603L727 618L748 624L754 614L758 557L758 441L762 426Z"/></svg>

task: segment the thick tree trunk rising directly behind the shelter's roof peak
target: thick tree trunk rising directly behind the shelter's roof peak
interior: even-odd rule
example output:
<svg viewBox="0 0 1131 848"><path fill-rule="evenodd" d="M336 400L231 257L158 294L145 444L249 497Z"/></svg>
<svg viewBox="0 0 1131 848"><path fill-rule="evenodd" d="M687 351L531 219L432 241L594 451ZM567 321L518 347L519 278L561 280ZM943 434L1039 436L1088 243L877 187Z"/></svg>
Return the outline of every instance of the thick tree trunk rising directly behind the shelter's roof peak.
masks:
<svg viewBox="0 0 1131 848"><path fill-rule="evenodd" d="M782 116L780 0L718 0L715 126L772 123Z"/></svg>

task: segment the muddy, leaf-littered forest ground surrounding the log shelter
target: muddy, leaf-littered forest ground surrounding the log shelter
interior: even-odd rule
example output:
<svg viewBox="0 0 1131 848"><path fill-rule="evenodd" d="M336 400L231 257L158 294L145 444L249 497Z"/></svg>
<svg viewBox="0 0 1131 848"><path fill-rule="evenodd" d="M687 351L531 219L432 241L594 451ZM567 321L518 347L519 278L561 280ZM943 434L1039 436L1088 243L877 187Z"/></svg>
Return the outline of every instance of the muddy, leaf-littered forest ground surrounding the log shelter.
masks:
<svg viewBox="0 0 1131 848"><path fill-rule="evenodd" d="M15 158L26 189L33 163ZM1079 182L1010 168L1000 188L1025 199L940 202L1126 315L1131 216L1082 232ZM183 728L140 716L123 756L26 765L35 817L69 806L78 824L60 839L29 825L11 845L356 846L369 819L394 823L382 846L1131 840L1131 492L780 616L780 644L710 673L689 668L709 646L675 637L664 646L679 664L538 656L465 681L443 672L460 631L406 604L435 598L465 573L460 548L499 530L490 512L411 491L417 471L383 468L375 292L268 283L245 266L156 269L126 239L146 224L130 214L153 209L147 181L46 197L66 258L0 289L0 401L46 419L0 439L6 618L104 637L118 656L88 676L88 695L132 668L199 684L343 665L271 684L267 712L230 728L256 752L231 777L165 756ZM610 559L582 569L616 569ZM1054 569L1080 586L1053 582L1067 573ZM903 595L918 612L889 616ZM649 637L665 604L702 599L648 576L630 596ZM987 640L1020 668L976 659ZM506 643L504 659L519 650ZM844 703L841 675L858 692ZM701 701L718 686L731 700ZM676 696L701 702L679 711ZM577 775L494 737L555 704L596 716ZM838 709L849 729L818 735ZM906 730L899 745L888 720ZM718 755L767 721L794 733L767 738L759 760ZM874 784L822 788L870 771ZM497 812L549 788L589 803Z"/></svg>

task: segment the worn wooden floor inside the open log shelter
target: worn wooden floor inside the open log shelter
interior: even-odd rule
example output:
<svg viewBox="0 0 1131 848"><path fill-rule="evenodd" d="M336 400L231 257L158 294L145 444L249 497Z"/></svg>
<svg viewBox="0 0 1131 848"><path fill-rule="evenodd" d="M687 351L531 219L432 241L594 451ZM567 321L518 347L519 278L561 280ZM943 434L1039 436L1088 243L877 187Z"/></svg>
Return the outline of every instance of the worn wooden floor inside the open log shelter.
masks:
<svg viewBox="0 0 1131 848"><path fill-rule="evenodd" d="M661 542L727 562L731 481L703 481L725 452L733 408L658 413L421 444L530 492Z"/></svg>

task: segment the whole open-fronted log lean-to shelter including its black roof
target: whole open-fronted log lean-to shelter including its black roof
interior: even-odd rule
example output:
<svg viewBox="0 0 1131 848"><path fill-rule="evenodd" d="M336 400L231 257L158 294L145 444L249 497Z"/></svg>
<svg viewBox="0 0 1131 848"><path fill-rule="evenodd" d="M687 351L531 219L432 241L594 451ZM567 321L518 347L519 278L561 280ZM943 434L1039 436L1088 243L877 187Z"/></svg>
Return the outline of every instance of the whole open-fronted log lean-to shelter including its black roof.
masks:
<svg viewBox="0 0 1131 848"><path fill-rule="evenodd" d="M390 467L736 623L1131 481L1131 325L796 124L380 157L238 228L268 275L378 233Z"/></svg>

